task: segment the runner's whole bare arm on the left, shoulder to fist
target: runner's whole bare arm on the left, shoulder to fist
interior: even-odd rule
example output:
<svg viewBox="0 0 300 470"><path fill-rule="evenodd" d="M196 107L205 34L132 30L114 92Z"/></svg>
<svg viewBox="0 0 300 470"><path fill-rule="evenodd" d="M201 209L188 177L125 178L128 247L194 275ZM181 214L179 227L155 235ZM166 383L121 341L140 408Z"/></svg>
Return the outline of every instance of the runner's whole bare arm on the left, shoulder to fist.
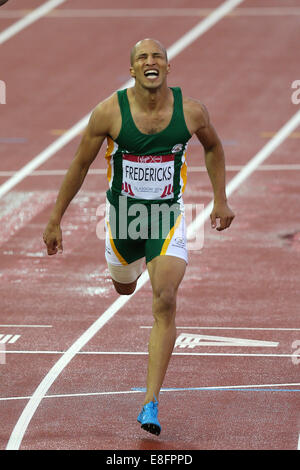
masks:
<svg viewBox="0 0 300 470"><path fill-rule="evenodd" d="M43 234L49 255L62 251L60 222L72 199L81 188L90 165L110 130L110 103L100 103L93 111L75 157L60 187L56 203Z"/></svg>

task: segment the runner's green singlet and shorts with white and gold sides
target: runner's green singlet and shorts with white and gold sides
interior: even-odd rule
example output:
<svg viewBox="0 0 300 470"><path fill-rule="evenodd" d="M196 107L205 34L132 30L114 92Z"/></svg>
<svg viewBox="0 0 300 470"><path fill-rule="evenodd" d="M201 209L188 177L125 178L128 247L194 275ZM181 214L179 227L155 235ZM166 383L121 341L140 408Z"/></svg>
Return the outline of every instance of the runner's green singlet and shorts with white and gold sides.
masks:
<svg viewBox="0 0 300 470"><path fill-rule="evenodd" d="M109 182L107 200L110 206L107 217L106 255L108 261L113 264L119 261L121 264L131 263L145 256L145 253L146 261L154 256L166 254L166 247L170 244L169 241L166 242L166 238L170 233L173 236L175 226L177 227L183 219L182 195L187 178L186 149L191 134L184 119L181 89L175 87L171 90L174 96L171 121L165 129L156 134L144 134L139 131L131 115L127 89L117 92L122 126L115 140L108 137L105 155ZM168 215L167 231L162 232L166 212L162 211L153 222L151 214L155 212L152 211L154 205L172 207ZM123 210L123 207L126 209ZM135 208L140 212L143 212L141 209L147 209L146 214L143 212L144 219L137 219ZM126 237L124 224L120 224L125 216L127 227L135 226L136 229L133 235L128 231ZM139 223L134 225L134 218ZM157 226L157 230L154 230L153 235L154 226ZM137 236L137 232L140 236Z"/></svg>

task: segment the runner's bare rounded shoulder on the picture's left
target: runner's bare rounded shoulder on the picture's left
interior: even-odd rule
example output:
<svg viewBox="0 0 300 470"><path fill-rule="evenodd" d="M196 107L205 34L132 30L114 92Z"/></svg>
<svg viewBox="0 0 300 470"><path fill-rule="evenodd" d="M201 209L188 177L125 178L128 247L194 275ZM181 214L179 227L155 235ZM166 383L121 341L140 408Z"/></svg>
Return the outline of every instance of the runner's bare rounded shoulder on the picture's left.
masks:
<svg viewBox="0 0 300 470"><path fill-rule="evenodd" d="M117 93L97 104L90 118L91 131L96 135L118 135L120 108Z"/></svg>

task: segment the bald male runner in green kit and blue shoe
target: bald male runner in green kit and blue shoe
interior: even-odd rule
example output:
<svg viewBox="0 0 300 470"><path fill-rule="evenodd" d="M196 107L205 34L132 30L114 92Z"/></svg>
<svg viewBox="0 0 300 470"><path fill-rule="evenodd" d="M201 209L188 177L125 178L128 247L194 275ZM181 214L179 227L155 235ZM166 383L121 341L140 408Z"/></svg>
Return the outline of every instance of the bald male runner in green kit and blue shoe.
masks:
<svg viewBox="0 0 300 470"><path fill-rule="evenodd" d="M133 47L130 74L135 84L114 93L94 109L43 235L48 255L62 251L62 216L107 139L105 255L115 289L122 295L134 292L146 259L154 324L149 339L147 391L138 422L156 435L161 431L157 398L175 343L176 296L187 265L182 194L186 146L193 134L204 148L214 193L211 226L224 230L234 218L225 194L225 159L220 139L206 108L194 99L182 97L180 88L168 87L169 70L167 53L160 42L144 39ZM161 203L172 208L167 233L161 228L161 217L158 222L151 218L152 209ZM130 237L129 230L125 237L120 236L120 227L124 231L124 223L127 229L134 220L135 204L142 204L148 211L141 224L144 237ZM120 211L120 205L126 210ZM151 236L153 225L157 225L157 231Z"/></svg>

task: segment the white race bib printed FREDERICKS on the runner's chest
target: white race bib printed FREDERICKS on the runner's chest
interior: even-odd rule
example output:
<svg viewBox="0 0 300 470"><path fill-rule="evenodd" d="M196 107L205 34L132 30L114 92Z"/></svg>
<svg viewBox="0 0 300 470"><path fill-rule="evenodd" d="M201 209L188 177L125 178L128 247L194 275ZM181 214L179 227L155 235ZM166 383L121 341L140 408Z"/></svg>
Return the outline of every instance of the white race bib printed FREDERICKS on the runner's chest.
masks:
<svg viewBox="0 0 300 470"><path fill-rule="evenodd" d="M122 194L137 199L174 197L174 155L123 154Z"/></svg>

